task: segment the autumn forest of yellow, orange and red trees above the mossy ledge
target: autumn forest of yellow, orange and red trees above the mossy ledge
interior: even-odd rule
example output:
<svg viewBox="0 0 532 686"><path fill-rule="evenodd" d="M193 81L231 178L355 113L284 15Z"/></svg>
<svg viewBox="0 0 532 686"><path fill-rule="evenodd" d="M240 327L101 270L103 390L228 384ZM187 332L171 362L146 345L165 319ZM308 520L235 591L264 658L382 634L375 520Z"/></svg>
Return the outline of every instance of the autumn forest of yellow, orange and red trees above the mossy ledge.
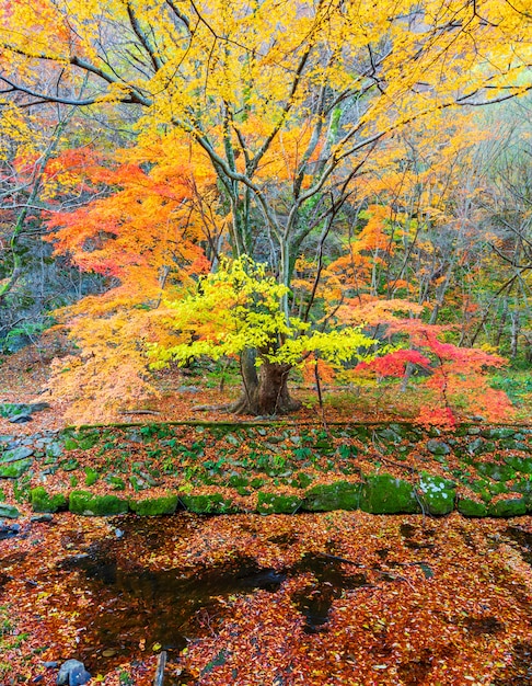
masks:
<svg viewBox="0 0 532 686"><path fill-rule="evenodd" d="M297 409L289 374L320 403L391 378L429 423L527 413L525 2L3 2L0 24L0 340L66 327L71 420L157 407L176 363L240 377L244 413Z"/></svg>

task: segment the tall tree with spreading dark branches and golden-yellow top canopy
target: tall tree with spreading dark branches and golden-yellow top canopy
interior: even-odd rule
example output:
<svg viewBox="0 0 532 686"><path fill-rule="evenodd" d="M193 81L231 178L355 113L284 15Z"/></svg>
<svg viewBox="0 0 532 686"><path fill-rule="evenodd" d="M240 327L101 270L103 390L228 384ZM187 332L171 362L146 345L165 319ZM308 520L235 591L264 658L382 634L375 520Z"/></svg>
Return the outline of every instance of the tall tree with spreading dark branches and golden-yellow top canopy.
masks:
<svg viewBox="0 0 532 686"><path fill-rule="evenodd" d="M287 325L298 258L317 251L317 284L323 247L383 141L531 88L523 0L45 0L5 4L1 20L0 80L21 106L129 105L141 144L176 130L201 151L233 258L269 265ZM282 335L270 344L282 346ZM242 351L244 386L279 399L282 375L273 365L257 376L254 355ZM282 396L286 408L265 410L288 409Z"/></svg>

